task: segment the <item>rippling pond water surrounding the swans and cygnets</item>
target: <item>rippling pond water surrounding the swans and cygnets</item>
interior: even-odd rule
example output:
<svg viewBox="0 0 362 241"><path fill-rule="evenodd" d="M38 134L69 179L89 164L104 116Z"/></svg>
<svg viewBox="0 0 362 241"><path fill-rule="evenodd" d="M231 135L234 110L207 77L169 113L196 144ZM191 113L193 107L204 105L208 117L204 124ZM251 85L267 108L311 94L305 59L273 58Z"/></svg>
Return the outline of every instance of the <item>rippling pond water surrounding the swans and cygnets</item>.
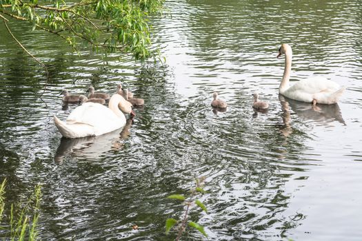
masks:
<svg viewBox="0 0 362 241"><path fill-rule="evenodd" d="M209 240L360 240L362 236L362 6L348 1L167 1L152 20L166 65L83 52L10 24L46 63L50 80L0 24L0 180L8 202L43 186L41 240L172 240L167 218L198 196L190 220ZM292 81L324 76L347 87L338 105L278 94L281 43L293 48ZM112 94L123 83L145 99L125 129L67 140L52 118L67 88ZM212 92L228 102L213 112ZM252 93L270 103L254 112ZM139 229L133 230L137 224ZM1 232L0 232L1 235ZM184 240L203 240L189 229Z"/></svg>

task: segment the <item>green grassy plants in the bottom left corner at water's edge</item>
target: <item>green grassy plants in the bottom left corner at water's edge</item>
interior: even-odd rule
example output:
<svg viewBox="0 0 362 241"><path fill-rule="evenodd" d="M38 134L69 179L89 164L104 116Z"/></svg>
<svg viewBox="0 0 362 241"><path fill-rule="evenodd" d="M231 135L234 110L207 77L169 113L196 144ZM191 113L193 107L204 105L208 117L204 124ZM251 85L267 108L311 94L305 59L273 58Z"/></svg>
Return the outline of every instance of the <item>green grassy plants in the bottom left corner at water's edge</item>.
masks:
<svg viewBox="0 0 362 241"><path fill-rule="evenodd" d="M34 193L22 204L10 205L9 224L3 226L3 211L5 209L6 179L0 186L0 229L8 233L8 240L37 240L37 223L39 220L41 185L37 185ZM5 237L4 237L5 238Z"/></svg>

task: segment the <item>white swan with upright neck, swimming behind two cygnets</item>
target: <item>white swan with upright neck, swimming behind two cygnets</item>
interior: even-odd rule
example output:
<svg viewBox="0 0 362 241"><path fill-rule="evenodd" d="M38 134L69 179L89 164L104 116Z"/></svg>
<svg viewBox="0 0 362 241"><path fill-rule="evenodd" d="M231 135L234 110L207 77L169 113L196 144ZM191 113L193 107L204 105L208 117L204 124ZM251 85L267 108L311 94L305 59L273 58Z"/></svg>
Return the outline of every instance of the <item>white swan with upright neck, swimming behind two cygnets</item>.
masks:
<svg viewBox="0 0 362 241"><path fill-rule="evenodd" d="M292 48L290 45L283 43L279 48L279 58L285 54L284 74L279 85L279 93L295 101L307 103L334 104L343 94L345 87L340 87L337 83L328 81L325 78L313 77L303 81L298 81L289 86L290 71L292 70Z"/></svg>

